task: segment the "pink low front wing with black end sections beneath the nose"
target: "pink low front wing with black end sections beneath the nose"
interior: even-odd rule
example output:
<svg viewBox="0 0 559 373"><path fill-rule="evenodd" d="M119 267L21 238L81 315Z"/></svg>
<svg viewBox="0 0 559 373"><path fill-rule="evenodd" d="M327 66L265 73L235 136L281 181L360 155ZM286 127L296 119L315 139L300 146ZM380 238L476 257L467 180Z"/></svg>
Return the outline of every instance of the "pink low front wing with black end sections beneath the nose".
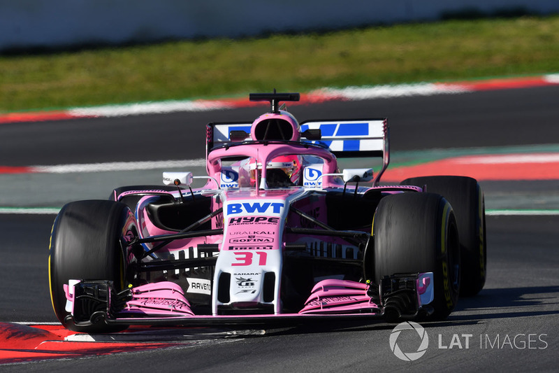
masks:
<svg viewBox="0 0 559 373"><path fill-rule="evenodd" d="M91 325L253 325L338 318L389 321L431 314L433 273L395 274L379 284L328 279L312 289L296 314L196 315L180 286L168 281L115 293L112 281L71 280L64 286L67 328Z"/></svg>

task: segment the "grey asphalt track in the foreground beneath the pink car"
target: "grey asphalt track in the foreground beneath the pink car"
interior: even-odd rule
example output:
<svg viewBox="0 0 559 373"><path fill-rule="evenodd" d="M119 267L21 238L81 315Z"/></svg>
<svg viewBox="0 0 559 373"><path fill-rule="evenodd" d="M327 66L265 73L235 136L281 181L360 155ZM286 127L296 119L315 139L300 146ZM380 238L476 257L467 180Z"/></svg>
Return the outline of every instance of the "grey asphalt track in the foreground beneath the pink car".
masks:
<svg viewBox="0 0 559 373"><path fill-rule="evenodd" d="M55 321L45 268L45 241L52 219L0 219L1 226L7 227L2 229L3 250L10 252L1 265L3 278L7 279L1 284L1 320ZM175 330L166 337L152 338L177 342L168 349L0 365L0 371L556 371L558 224L557 216L488 217L486 287L477 297L460 300L447 321L421 323L428 333L429 346L425 355L413 362L402 361L391 352L389 339L395 324L378 322L252 327L237 334L219 327ZM19 235L29 230L34 234L25 234L27 238L22 240ZM419 337L413 333L401 335L398 345L402 351L414 352Z"/></svg>

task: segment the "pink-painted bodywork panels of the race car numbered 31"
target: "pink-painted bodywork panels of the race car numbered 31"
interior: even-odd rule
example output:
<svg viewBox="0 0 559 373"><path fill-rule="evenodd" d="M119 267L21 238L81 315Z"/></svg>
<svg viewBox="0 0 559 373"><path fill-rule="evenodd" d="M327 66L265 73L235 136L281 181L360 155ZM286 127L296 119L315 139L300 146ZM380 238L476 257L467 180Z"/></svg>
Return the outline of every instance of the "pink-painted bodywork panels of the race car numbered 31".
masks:
<svg viewBox="0 0 559 373"><path fill-rule="evenodd" d="M284 112L282 112L284 113ZM293 136L289 141L300 141L300 127L296 120L289 115L284 114L265 114L254 121L251 129L251 138L256 140L255 128L261 120L266 120L277 116L285 117L293 127ZM382 122L382 132L387 136L388 127L386 120ZM208 129L208 139L213 136ZM360 193L365 190L379 190L383 194L391 194L402 192L403 190L413 190L421 192L422 188L413 186L379 186L378 179L382 171L388 166L388 146L385 143L383 150L384 166L375 178L372 188L359 189ZM313 201L305 199L307 189L313 188L282 188L270 189L266 184L266 167L268 162L275 157L282 155L308 155L318 157L322 160L321 189L325 188L344 188L343 181L333 174L340 171L337 169L337 160L335 155L326 148L317 146L307 146L305 143L281 143L271 141L270 143L242 143L234 146L222 146L208 153L206 160L206 169L208 172L208 183L203 188L198 188L195 192L203 191L205 195L212 196L211 209L216 211L224 208L222 214L212 218L212 229L224 228L222 236L195 237L189 239L177 239L170 242L165 251L173 253L175 251L184 250L189 246L197 246L200 244L218 244L219 256L217 257L219 265L216 267L216 277L219 271L231 271L231 276L235 276L235 270L242 272L266 272L275 271L281 273L282 269L282 250L284 242L288 241L288 237L284 237L285 221L294 218L294 213L289 211L289 206L297 206L298 209L307 211L318 211L318 220L324 220L321 214L326 211L326 202L324 197L317 197ZM262 164L261 183L255 185L254 188L241 188L231 190L220 190L219 183L222 173L222 160L226 158L250 157L256 160L257 164ZM347 192L353 193L355 187L348 187ZM139 191L127 191L121 195L115 195L115 200L119 200L126 195L134 195ZM148 194L150 190L143 190ZM156 195L172 195L173 198L180 197L178 192L169 192L165 190L152 190L153 195L145 195L141 197L136 209L136 219L140 230L140 238L157 236L161 234L172 234L168 230L161 229L152 223L144 206L150 202ZM219 198L216 198L218 196ZM299 198L302 197L302 198ZM312 206L311 206L312 205ZM246 222L243 223L243 222ZM239 250L239 238L246 235L247 232L263 232L266 236L263 238L263 244L252 247L251 250ZM264 234L265 233L265 234ZM258 235L258 234L255 234ZM334 237L333 241L343 243L343 239ZM149 249L149 247L147 248ZM154 255L152 255L153 258ZM276 264L277 262L277 264ZM270 265L271 263L271 265ZM276 266L276 267L274 267ZM279 281L281 276L277 276L275 283L276 294L279 295ZM255 280L259 281L259 280ZM214 281L215 282L215 281ZM418 290L418 301L421 304L421 295L426 293L430 283L430 277L420 276L416 283ZM73 291L68 286L64 287L66 298L69 303L73 302ZM303 309L298 314L282 314L281 304L276 300L274 315L281 316L305 316L305 315L332 315L332 314L380 314L382 310L380 305L376 304L370 293L370 285L368 283L359 283L356 281L344 281L338 279L326 279L319 281L310 296L307 298ZM256 292L256 290L254 290ZM118 318L126 318L129 316L147 316L148 318L203 318L208 316L197 316L191 310L191 304L184 295L184 291L180 286L169 281L161 281L150 283L143 286L137 286L131 289L131 300L126 302L126 307L118 314ZM239 295L239 303L242 303L242 296ZM276 296L276 298L279 298ZM256 299L256 298L255 298ZM246 304L255 303L247 298ZM217 315L217 304L214 295L213 316L214 318L226 317ZM270 317L270 315L250 314L239 317Z"/></svg>

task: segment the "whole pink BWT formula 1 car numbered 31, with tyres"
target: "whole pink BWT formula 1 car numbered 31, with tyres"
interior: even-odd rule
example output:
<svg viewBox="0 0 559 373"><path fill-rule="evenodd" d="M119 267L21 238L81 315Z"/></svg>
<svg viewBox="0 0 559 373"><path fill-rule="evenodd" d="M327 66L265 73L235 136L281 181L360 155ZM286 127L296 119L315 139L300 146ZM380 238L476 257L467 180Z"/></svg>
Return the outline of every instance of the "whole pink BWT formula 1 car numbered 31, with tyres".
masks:
<svg viewBox="0 0 559 373"><path fill-rule="evenodd" d="M446 318L485 282L477 181L381 185L384 119L299 124L279 101L251 123L210 123L205 176L164 173L110 200L66 204L50 239L50 292L66 328ZM380 157L338 169L337 157ZM381 164L381 162L378 162ZM205 184L194 188L193 179ZM199 182L198 182L199 183ZM199 183L199 185L202 185Z"/></svg>

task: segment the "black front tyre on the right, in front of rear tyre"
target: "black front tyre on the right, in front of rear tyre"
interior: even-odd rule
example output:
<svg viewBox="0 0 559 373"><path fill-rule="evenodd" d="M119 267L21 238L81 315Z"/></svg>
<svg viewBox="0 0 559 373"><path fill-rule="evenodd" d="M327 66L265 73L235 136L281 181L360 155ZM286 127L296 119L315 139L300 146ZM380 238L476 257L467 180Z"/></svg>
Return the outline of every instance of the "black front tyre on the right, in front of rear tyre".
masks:
<svg viewBox="0 0 559 373"><path fill-rule="evenodd" d="M375 212L372 234L375 282L393 274L433 272L430 318L447 318L460 288L460 246L449 202L433 193L384 197Z"/></svg>

